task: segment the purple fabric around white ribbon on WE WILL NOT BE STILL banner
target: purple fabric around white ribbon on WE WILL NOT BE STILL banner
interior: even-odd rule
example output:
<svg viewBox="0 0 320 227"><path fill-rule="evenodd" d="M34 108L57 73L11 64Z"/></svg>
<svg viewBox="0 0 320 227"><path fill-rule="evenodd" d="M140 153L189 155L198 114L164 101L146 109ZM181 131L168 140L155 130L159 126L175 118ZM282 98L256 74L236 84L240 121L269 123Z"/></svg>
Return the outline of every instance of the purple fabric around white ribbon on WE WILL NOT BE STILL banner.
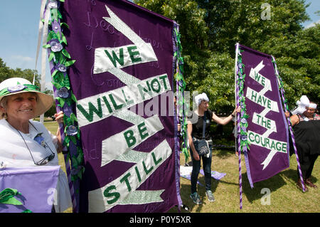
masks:
<svg viewBox="0 0 320 227"><path fill-rule="evenodd" d="M137 33L146 43L151 43L157 62L131 65L122 68L124 72L134 75L139 80L151 78L166 73L171 88L173 88L173 53L172 33L174 21L164 18L129 1L65 1L61 4L63 22L70 29L63 31L68 41L66 50L70 53L75 64L70 67L68 75L71 87L77 100L100 93L106 93L124 85L111 73L93 74L95 48L119 47L132 42L117 31L102 17L108 16L107 5L119 19ZM148 101L144 102L146 105ZM169 103L161 106L166 108ZM142 116L146 118L147 116ZM107 212L165 212L178 204L176 191L176 159L174 142L174 116L161 116L159 119L164 126L161 130L149 137L134 150L151 152L164 139L169 143L172 154L156 169L137 190L161 190L161 203L143 205L116 205ZM114 179L124 174L134 164L129 162L112 161L101 166L102 141L114 134L126 130L132 124L117 117L107 117L99 122L80 127L82 148L85 158L85 173L80 185L80 212L88 211L88 192L100 189ZM178 154L179 155L179 154Z"/></svg>

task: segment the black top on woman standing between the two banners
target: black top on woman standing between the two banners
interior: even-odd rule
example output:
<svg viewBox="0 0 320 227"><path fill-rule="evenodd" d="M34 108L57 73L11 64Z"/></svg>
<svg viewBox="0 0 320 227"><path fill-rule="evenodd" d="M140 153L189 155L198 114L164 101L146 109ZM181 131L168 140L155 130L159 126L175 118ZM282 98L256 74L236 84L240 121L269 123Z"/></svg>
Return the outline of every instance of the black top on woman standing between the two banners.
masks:
<svg viewBox="0 0 320 227"><path fill-rule="evenodd" d="M212 120L213 112L211 110L207 110L204 112L206 115L206 132L205 132L205 138L206 140L210 140L210 125ZM196 139L202 139L202 133L203 133L203 116L197 115L195 112L191 112L191 117L188 117L189 120L193 118L193 116L198 117L198 121L192 122L192 133L191 136L195 137Z"/></svg>

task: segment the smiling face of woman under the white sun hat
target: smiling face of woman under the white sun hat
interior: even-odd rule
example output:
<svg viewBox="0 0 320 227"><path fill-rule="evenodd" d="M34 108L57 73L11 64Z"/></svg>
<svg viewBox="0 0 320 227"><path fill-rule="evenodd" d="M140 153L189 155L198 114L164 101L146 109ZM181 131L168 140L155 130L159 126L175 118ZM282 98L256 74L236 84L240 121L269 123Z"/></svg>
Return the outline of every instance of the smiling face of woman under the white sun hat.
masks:
<svg viewBox="0 0 320 227"><path fill-rule="evenodd" d="M6 102L8 118L17 120L30 120L35 115L37 96L33 93L18 93L9 95Z"/></svg>

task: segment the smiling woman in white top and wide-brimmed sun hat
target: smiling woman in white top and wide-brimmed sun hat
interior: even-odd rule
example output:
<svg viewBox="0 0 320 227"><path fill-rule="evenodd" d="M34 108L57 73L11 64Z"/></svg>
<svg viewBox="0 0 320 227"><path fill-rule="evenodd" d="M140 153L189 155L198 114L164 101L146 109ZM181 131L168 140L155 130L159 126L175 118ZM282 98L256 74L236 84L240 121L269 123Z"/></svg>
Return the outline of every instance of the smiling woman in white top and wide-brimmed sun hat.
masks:
<svg viewBox="0 0 320 227"><path fill-rule="evenodd" d="M0 167L37 167L58 165L60 137L37 121L53 104L53 97L23 78L0 83ZM55 115L61 122L63 112ZM40 146L39 146L40 144ZM54 203L55 212L72 206L68 180L60 169Z"/></svg>

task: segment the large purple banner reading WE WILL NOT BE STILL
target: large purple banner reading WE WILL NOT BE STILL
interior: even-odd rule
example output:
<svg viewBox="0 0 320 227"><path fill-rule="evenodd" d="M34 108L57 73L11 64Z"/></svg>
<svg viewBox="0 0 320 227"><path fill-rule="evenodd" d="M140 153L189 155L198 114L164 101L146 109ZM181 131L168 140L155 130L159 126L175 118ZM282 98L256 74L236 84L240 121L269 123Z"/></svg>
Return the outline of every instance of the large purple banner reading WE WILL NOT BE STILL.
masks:
<svg viewBox="0 0 320 227"><path fill-rule="evenodd" d="M165 212L178 204L174 21L129 1L61 4L85 173L80 212ZM171 111L170 111L171 110Z"/></svg>

